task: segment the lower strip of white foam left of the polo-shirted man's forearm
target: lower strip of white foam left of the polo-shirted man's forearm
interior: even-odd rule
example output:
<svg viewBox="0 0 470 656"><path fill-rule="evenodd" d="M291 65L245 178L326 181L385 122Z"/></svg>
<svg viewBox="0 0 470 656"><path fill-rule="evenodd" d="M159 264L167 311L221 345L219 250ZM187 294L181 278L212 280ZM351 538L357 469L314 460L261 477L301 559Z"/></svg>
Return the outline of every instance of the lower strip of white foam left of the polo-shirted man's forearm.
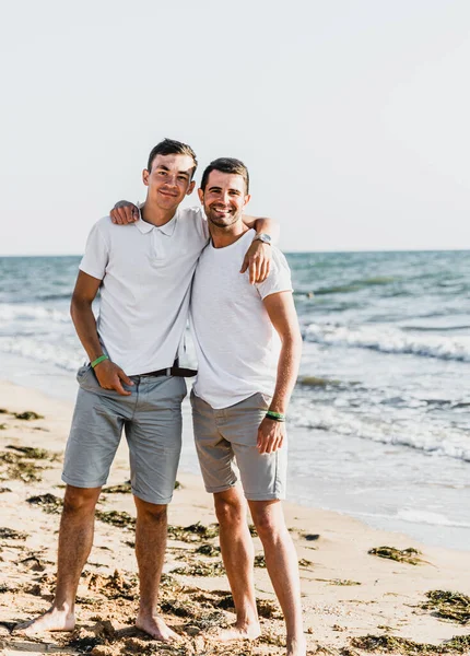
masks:
<svg viewBox="0 0 470 656"><path fill-rule="evenodd" d="M69 372L77 371L85 360L85 355L80 349L24 338L1 338L0 352L22 355L35 362L47 362Z"/></svg>

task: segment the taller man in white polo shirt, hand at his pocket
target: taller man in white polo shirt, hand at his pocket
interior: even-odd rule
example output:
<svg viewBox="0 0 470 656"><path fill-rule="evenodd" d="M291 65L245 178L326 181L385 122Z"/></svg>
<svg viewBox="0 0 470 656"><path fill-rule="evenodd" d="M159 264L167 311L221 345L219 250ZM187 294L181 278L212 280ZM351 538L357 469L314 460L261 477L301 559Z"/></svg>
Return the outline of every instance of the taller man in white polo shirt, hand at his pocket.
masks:
<svg viewBox="0 0 470 656"><path fill-rule="evenodd" d="M157 616L156 605L188 374L179 368L177 354L192 274L209 235L200 210L178 210L193 189L196 166L188 145L158 143L143 171L148 194L139 220L119 226L106 216L90 234L71 314L91 364L78 374L80 389L66 449L56 595L45 614L17 626L27 634L74 628L77 588L92 548L95 505L125 430L137 506L136 624L164 642L178 637ZM246 220L262 233L272 227L269 220ZM260 241L249 247L270 248ZM260 260L263 270L263 257ZM92 303L98 290L95 321Z"/></svg>

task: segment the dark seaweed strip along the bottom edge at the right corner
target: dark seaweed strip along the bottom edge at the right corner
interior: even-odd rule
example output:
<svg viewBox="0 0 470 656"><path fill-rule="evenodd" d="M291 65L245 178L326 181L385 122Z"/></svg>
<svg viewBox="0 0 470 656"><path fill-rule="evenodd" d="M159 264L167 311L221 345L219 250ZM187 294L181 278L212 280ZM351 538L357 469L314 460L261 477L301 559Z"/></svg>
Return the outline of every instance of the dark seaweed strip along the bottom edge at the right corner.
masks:
<svg viewBox="0 0 470 656"><path fill-rule="evenodd" d="M365 635L353 637L351 645L373 654L424 654L435 656L438 654L468 654L470 648L470 635L456 635L451 640L445 641L439 645L427 643L416 643L406 637L396 637L393 635Z"/></svg>

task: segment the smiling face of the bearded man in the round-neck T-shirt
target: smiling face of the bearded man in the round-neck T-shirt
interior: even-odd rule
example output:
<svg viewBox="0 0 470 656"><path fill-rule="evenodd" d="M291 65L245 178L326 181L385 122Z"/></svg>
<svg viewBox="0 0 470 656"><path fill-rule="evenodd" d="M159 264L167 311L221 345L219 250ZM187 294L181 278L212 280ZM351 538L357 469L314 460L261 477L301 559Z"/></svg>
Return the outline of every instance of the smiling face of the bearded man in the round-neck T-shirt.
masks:
<svg viewBox="0 0 470 656"><path fill-rule="evenodd" d="M205 189L199 189L199 199L210 223L230 227L242 219L250 196L240 175L211 171Z"/></svg>

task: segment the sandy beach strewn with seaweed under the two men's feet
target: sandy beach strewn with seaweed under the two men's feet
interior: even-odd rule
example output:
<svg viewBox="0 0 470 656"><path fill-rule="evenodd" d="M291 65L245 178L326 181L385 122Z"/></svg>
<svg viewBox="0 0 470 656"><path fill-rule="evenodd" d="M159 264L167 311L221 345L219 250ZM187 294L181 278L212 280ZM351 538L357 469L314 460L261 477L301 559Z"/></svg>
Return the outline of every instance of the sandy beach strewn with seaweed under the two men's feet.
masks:
<svg viewBox="0 0 470 656"><path fill-rule="evenodd" d="M0 409L2 654L285 653L280 610L256 536L262 636L252 644L230 646L213 639L218 626L234 621L232 599L216 547L212 499L198 477L184 473L178 475L169 508L161 605L184 642L178 647L161 645L133 628L136 514L125 444L98 504L75 631L37 640L11 635L14 624L46 610L51 600L63 495L61 459L72 405L1 383ZM190 431L188 423L185 430ZM285 514L301 559L309 654L470 654L468 552L430 548L321 509L286 503ZM396 558L403 560L369 553L380 547L395 548Z"/></svg>

